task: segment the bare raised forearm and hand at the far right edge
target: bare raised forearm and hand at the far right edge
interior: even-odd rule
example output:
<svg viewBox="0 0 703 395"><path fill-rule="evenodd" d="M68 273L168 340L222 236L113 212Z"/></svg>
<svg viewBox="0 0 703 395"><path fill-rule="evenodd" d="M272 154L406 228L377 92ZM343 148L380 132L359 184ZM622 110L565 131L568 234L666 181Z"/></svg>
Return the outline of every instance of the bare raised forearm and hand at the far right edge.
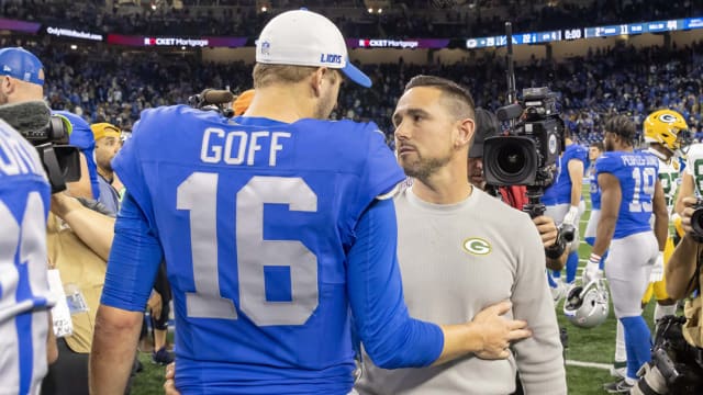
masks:
<svg viewBox="0 0 703 395"><path fill-rule="evenodd" d="M667 293L673 300L687 297L698 285L696 281L692 281L701 250L701 244L691 237L691 214L693 214L694 204L695 198L693 196L687 196L681 200L683 207L681 211L681 226L685 232L685 236L673 250L665 269Z"/></svg>

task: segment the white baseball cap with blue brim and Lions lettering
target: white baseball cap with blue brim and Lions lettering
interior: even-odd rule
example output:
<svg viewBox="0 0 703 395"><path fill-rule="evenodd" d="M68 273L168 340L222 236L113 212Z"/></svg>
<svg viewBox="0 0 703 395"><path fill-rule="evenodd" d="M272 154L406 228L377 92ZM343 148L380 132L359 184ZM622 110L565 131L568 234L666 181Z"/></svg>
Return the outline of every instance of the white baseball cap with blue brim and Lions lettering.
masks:
<svg viewBox="0 0 703 395"><path fill-rule="evenodd" d="M371 79L349 61L337 26L308 10L287 11L270 20L256 43L256 61L339 69L361 87L371 87Z"/></svg>

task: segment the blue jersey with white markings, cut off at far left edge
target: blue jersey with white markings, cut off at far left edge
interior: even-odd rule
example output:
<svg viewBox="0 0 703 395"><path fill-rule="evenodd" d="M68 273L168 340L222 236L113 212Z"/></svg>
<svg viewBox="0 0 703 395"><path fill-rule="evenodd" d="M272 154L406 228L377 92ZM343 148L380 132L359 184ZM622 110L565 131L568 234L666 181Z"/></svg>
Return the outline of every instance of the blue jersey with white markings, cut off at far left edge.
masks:
<svg viewBox="0 0 703 395"><path fill-rule="evenodd" d="M36 149L0 120L0 383L38 391L46 374L46 216L51 187Z"/></svg>

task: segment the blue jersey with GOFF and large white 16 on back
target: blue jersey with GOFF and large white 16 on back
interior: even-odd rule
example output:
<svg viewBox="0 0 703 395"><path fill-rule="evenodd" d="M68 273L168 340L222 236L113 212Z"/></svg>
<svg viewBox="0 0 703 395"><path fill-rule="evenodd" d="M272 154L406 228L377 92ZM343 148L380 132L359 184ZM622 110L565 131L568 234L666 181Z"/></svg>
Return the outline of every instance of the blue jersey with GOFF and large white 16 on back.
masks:
<svg viewBox="0 0 703 395"><path fill-rule="evenodd" d="M366 207L405 178L375 124L159 108L113 167L167 262L179 388L350 391L346 252ZM102 303L143 309L156 267L119 290L146 290L129 303L109 294L112 263Z"/></svg>

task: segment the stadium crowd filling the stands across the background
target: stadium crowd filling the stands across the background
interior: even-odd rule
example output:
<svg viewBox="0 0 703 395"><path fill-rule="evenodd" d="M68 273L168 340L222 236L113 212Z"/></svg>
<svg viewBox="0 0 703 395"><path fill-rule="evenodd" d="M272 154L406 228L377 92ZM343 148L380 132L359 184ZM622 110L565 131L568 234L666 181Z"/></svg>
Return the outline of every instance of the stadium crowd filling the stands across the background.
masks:
<svg viewBox="0 0 703 395"><path fill-rule="evenodd" d="M110 122L130 131L146 108L187 103L204 88L250 88L249 66L202 64L191 57L130 53L96 46L68 49L65 44L0 41L24 45L46 65L45 94L54 110L68 110L89 122ZM549 86L560 93L562 114L574 140L588 145L602 138L602 120L625 113L636 123L658 108L683 114L691 135L701 140L703 116L703 44L666 50L618 45L592 50L561 63L534 59L515 69L516 87ZM503 59L486 56L454 65L364 65L377 89L343 87L333 119L373 120L392 132L391 113L403 83L419 74L442 75L475 92L477 104L495 110L505 102ZM390 140L390 138L389 138Z"/></svg>

